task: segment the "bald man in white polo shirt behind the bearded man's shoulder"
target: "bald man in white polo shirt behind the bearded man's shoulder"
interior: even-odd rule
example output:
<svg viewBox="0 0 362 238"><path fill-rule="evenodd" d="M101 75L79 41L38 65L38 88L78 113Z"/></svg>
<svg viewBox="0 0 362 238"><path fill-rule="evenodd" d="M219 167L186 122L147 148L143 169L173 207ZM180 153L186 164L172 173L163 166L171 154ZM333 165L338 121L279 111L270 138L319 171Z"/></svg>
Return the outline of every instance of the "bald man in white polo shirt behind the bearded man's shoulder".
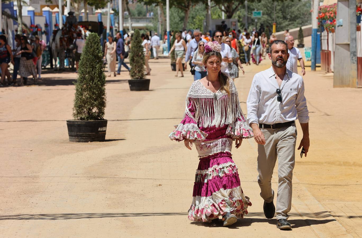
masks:
<svg viewBox="0 0 362 238"><path fill-rule="evenodd" d="M300 67L302 67L302 75L306 74L306 68L304 68L304 60L298 48L294 47L294 38L291 35L285 37L285 42L288 45L289 58L287 61L287 69L293 73L298 73L298 61Z"/></svg>

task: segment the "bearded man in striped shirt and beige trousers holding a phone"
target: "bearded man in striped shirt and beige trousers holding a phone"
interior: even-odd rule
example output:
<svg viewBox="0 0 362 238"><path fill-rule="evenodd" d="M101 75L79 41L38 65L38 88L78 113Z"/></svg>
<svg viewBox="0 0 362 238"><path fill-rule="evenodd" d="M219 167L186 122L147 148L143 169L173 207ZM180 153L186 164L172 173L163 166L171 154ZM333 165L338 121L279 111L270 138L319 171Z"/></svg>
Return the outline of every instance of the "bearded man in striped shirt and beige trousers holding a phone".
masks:
<svg viewBox="0 0 362 238"><path fill-rule="evenodd" d="M253 78L247 100L248 121L258 143L258 183L264 199L265 217L271 219L275 214L271 177L278 157L277 227L291 229L287 218L291 209L295 163L295 120L298 118L303 131L298 150L303 147L307 156L308 108L303 78L286 68L289 58L287 44L273 41L268 56L272 66Z"/></svg>

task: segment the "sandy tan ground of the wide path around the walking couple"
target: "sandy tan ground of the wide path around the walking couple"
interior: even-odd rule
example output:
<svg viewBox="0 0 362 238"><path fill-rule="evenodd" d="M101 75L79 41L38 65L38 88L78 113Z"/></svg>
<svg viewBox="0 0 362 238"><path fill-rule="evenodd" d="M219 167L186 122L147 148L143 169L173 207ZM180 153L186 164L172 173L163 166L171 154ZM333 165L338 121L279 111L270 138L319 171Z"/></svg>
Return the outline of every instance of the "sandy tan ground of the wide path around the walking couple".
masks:
<svg viewBox="0 0 362 238"><path fill-rule="evenodd" d="M311 152L296 161L293 229L280 231L274 219L264 217L253 139L233 151L253 205L243 220L223 228L187 220L197 152L167 137L181 120L192 78L188 72L174 77L168 59L151 60L150 65L149 92L130 92L127 72L107 78L109 122L102 143L68 141L65 120L72 114L74 73L44 74L39 86L0 89L2 237L361 234L361 207L338 205L361 205L361 181L356 178L362 172L362 127L353 126L361 116L361 90L333 89L331 76L307 72ZM244 112L253 75L269 65L264 60L258 67L245 66L245 75L236 79ZM274 190L276 178L274 174Z"/></svg>

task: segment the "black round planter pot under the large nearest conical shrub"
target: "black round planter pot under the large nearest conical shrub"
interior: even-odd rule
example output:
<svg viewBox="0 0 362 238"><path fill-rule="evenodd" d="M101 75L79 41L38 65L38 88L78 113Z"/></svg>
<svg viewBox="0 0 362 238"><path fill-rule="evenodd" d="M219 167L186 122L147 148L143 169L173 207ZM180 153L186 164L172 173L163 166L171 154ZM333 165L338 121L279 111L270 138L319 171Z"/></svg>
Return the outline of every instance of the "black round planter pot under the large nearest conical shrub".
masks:
<svg viewBox="0 0 362 238"><path fill-rule="evenodd" d="M104 141L106 138L107 120L67 120L67 127L69 141L71 142Z"/></svg>

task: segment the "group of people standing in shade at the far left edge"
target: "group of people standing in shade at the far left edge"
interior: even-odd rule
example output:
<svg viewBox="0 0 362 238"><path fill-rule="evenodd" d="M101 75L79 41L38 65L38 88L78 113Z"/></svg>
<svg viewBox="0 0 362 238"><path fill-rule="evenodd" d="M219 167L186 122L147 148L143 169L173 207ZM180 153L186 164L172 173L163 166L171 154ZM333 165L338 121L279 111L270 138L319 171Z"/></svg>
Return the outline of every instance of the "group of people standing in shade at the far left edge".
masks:
<svg viewBox="0 0 362 238"><path fill-rule="evenodd" d="M32 76L34 83L41 78L42 54L46 49L46 43L36 35L28 39L26 35L15 35L15 46L12 49L5 35L0 35L0 86L22 86L28 83L28 77ZM13 75L9 72L9 64L13 64ZM17 76L20 81L17 82ZM5 79L6 77L6 79Z"/></svg>

